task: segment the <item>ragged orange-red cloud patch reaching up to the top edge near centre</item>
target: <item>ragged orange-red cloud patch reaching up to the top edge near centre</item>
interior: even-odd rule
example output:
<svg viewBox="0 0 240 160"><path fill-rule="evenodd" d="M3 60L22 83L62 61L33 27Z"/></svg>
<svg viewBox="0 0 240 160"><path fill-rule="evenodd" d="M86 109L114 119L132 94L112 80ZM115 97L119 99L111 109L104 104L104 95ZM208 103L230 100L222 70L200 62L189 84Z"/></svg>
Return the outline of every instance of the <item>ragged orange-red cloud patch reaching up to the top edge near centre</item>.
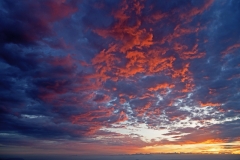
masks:
<svg viewBox="0 0 240 160"><path fill-rule="evenodd" d="M134 10L136 15L141 13L144 8L138 1L134 3ZM133 49L134 47L142 48L149 47L153 44L153 34L147 32L145 28L141 29L141 21L137 18L134 25L128 25L128 19L130 16L127 15L129 9L126 1L121 4L121 9L115 11L113 16L117 22L109 29L96 29L95 33L106 38L113 37L115 40L120 41L119 50L122 53Z"/></svg>

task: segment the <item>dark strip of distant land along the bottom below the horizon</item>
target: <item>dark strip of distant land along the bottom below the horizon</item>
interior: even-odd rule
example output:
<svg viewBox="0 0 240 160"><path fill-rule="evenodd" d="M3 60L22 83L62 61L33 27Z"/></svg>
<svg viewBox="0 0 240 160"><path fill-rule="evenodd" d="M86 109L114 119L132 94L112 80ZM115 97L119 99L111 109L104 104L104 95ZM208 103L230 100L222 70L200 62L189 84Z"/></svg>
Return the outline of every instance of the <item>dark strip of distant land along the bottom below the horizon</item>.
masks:
<svg viewBox="0 0 240 160"><path fill-rule="evenodd" d="M22 155L21 157L0 156L0 160L240 160L239 154Z"/></svg>

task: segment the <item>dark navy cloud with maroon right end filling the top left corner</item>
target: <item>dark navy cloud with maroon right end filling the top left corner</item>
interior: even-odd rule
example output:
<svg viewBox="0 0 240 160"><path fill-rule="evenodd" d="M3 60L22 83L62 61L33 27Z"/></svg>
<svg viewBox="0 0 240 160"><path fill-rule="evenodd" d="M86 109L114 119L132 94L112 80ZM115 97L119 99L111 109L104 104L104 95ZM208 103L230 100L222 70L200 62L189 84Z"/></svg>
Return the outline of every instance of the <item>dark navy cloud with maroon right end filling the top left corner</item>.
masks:
<svg viewBox="0 0 240 160"><path fill-rule="evenodd" d="M7 10L7 12L2 11L5 18L1 18L5 19L1 27L3 40L17 44L36 43L35 40L52 34L50 23L68 17L77 11L74 4L66 1L44 1L42 3L3 1L2 5ZM26 14L25 10L32 14Z"/></svg>

